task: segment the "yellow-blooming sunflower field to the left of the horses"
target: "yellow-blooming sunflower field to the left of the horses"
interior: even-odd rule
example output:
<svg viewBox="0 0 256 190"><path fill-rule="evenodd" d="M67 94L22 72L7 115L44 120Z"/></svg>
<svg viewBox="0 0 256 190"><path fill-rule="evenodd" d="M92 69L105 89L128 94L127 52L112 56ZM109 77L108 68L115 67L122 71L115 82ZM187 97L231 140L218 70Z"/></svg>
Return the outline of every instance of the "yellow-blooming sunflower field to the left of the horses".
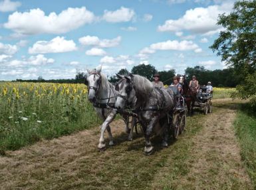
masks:
<svg viewBox="0 0 256 190"><path fill-rule="evenodd" d="M84 84L0 83L0 150L17 150L100 123Z"/></svg>

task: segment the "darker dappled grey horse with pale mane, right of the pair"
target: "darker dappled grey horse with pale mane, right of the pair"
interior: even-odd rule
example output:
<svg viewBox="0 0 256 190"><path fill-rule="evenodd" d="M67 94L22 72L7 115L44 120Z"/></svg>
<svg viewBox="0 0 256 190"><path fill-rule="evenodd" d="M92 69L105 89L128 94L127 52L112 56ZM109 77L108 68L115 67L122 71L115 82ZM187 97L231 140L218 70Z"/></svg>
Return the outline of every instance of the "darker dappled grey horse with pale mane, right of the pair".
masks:
<svg viewBox="0 0 256 190"><path fill-rule="evenodd" d="M116 89L119 90L115 104L117 109L122 110L128 105L135 105L134 109L146 139L144 152L152 153L152 132L157 135L163 134L162 146L168 146L167 115L174 110L176 104L174 93L164 88L155 88L145 77L133 74L122 77Z"/></svg>

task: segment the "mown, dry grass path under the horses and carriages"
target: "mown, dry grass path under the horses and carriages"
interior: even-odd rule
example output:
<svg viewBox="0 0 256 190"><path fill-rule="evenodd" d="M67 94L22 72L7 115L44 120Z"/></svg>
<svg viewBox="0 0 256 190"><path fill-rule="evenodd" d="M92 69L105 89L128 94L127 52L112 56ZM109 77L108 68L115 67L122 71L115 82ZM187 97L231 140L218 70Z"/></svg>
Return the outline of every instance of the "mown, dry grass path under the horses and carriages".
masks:
<svg viewBox="0 0 256 190"><path fill-rule="evenodd" d="M251 189L243 169L227 100L211 115L188 118L187 130L168 148L144 156L144 138L127 142L124 124L116 146L98 152L98 128L43 140L0 157L0 189Z"/></svg>

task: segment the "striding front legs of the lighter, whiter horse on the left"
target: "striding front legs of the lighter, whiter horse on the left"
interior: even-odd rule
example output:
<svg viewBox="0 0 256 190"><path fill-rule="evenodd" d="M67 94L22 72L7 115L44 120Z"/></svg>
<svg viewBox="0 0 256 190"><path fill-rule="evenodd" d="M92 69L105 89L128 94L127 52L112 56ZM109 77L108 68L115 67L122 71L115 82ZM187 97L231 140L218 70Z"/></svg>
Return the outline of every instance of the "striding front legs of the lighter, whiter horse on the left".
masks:
<svg viewBox="0 0 256 190"><path fill-rule="evenodd" d="M109 124L110 124L110 122L112 122L112 120L114 120L115 117L116 117L116 113L112 112L112 113L110 113L110 115L108 115L106 120L104 120L104 122L102 123L101 132L100 132L100 142L98 144L99 149L102 149L106 146L106 144L104 143L104 132L105 132L105 130L108 131L108 136L109 136L109 140L110 140L109 145L114 144Z"/></svg>

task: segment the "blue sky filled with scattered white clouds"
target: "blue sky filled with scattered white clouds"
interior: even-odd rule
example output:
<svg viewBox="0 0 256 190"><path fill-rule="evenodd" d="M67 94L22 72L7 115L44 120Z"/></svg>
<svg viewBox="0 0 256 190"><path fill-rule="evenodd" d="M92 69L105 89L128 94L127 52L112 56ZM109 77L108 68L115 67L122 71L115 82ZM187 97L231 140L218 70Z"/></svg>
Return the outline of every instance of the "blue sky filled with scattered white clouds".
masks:
<svg viewBox="0 0 256 190"><path fill-rule="evenodd" d="M0 0L0 80L72 78L102 65L106 75L138 64L184 73L224 64L208 48L233 1Z"/></svg>

